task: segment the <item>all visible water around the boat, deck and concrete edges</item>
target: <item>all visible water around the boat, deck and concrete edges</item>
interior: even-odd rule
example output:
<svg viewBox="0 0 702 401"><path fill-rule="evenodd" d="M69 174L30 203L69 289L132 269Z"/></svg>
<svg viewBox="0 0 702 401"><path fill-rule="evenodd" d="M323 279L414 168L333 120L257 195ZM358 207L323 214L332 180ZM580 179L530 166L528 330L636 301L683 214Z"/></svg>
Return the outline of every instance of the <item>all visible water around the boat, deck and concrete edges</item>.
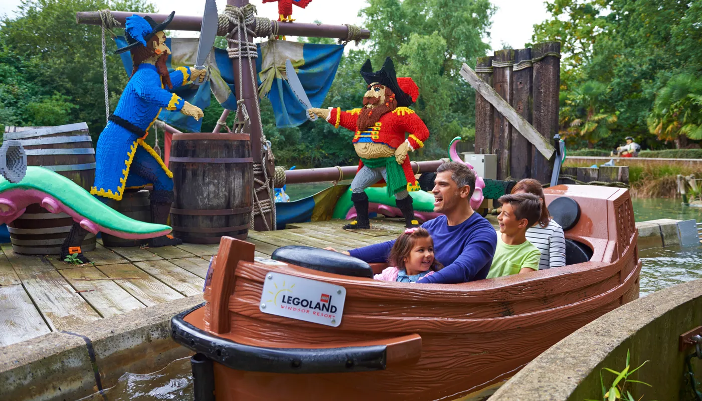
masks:
<svg viewBox="0 0 702 401"><path fill-rule="evenodd" d="M288 185L291 201L314 195L331 183ZM658 218L702 221L702 209L682 206L680 199L633 199L636 221ZM681 282L702 278L702 248L658 248L640 251L643 263L640 296ZM126 373L117 386L103 391L111 401L192 400L192 374L189 358L176 360L152 374ZM102 401L99 393L81 401Z"/></svg>

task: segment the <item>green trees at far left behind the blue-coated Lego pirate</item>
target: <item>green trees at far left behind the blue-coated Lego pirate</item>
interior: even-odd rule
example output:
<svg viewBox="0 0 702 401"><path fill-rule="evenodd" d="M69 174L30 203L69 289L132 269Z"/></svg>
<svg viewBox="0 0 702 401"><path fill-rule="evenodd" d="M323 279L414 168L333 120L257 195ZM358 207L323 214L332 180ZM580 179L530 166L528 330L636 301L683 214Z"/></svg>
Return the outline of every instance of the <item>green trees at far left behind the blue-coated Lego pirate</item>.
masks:
<svg viewBox="0 0 702 401"><path fill-rule="evenodd" d="M97 140L105 126L100 27L77 24L76 13L102 8L155 11L146 0L25 0L0 21L0 124L86 121ZM112 107L128 79L115 48L108 40Z"/></svg>

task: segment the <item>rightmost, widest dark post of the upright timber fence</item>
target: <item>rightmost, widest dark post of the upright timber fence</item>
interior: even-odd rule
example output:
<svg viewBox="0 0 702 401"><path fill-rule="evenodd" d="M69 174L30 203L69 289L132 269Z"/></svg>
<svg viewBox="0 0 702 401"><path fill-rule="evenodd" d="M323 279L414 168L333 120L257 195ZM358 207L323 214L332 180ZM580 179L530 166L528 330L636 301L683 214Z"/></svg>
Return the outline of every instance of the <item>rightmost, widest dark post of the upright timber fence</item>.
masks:
<svg viewBox="0 0 702 401"><path fill-rule="evenodd" d="M549 41L535 44L531 48L531 57L539 58L546 53L561 53L561 44ZM558 111L560 91L560 58L546 56L534 63L534 128L550 143L558 132ZM548 183L553 169L552 161L545 159L541 153L531 149L531 178Z"/></svg>

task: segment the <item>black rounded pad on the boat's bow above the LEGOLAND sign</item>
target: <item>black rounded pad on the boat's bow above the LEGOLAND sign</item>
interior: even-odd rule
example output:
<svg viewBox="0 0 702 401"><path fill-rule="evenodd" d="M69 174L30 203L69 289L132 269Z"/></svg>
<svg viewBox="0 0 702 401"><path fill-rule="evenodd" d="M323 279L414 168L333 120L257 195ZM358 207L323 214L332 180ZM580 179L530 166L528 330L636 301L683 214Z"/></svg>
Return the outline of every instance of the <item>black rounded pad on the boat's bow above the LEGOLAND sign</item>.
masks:
<svg viewBox="0 0 702 401"><path fill-rule="evenodd" d="M282 246L273 252L271 258L320 272L373 278L373 269L361 259L312 246Z"/></svg>

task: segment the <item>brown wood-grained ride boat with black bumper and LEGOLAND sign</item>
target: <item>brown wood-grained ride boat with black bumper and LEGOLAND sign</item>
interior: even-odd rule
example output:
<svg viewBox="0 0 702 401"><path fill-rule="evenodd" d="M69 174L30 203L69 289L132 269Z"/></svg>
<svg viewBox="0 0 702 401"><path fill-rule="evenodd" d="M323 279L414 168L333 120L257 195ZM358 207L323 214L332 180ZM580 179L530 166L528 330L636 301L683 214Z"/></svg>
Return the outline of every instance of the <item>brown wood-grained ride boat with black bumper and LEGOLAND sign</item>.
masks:
<svg viewBox="0 0 702 401"><path fill-rule="evenodd" d="M176 341L199 353L196 400L491 393L557 341L639 296L628 190L545 192L562 218L569 265L464 284L372 280L371 268L381 266L316 249L284 247L278 261L255 261L253 244L224 237L206 303L171 321Z"/></svg>

